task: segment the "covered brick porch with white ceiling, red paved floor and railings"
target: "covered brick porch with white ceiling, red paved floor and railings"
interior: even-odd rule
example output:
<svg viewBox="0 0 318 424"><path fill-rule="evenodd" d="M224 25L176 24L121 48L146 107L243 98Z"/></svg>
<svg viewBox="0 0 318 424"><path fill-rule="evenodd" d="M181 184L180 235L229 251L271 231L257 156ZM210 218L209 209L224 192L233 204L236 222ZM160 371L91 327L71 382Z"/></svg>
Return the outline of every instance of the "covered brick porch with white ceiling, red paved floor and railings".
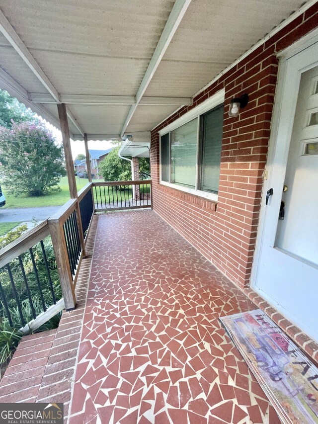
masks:
<svg viewBox="0 0 318 424"><path fill-rule="evenodd" d="M314 259L307 260L305 246L301 260L293 257L285 268L279 256L268 262L272 256L261 254L283 250L271 238L285 203L299 93L311 100L299 122L307 114L316 131L301 156L317 160L318 2L92 4L1 6L0 87L61 129L71 199L0 252L1 283L5 278L16 300L22 332L63 311L57 329L23 337L1 380L0 401L63 402L71 424L275 424L273 407L219 318L261 308L318 361L317 244ZM313 75L301 93L304 63ZM287 70L289 89L280 78ZM71 140L83 141L86 151L89 183L80 192ZM123 140L123 157L150 155L152 179L139 179L135 161L131 181L92 182L90 140ZM309 181L316 176L317 166ZM304 220L312 223L313 200L310 207L299 209L296 224L305 209L313 211ZM296 244L305 240L296 236ZM34 251L47 269L43 281ZM52 294L31 320L15 287L19 280L23 301L28 296L32 305L26 256L40 298L45 284Z"/></svg>

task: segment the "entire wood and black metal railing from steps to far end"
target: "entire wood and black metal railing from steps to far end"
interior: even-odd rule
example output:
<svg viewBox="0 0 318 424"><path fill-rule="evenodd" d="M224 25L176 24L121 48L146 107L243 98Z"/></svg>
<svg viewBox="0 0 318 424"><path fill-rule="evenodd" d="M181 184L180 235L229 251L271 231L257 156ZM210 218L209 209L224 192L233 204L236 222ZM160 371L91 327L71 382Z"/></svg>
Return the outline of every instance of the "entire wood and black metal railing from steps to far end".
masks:
<svg viewBox="0 0 318 424"><path fill-rule="evenodd" d="M93 214L151 206L151 180L86 184L76 199L70 199L49 219L0 250L2 318L12 326L13 299L20 330L28 333L64 308L74 309L75 287ZM31 320L24 310L31 311Z"/></svg>

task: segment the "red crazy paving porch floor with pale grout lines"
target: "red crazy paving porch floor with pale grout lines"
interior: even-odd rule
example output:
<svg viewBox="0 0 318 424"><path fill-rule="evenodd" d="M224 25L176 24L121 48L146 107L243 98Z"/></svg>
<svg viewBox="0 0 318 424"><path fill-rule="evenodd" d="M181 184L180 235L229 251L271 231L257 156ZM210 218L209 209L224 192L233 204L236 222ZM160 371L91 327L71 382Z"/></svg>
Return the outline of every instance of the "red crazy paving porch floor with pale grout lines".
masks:
<svg viewBox="0 0 318 424"><path fill-rule="evenodd" d="M155 212L100 216L69 423L279 423L218 320L254 308Z"/></svg>

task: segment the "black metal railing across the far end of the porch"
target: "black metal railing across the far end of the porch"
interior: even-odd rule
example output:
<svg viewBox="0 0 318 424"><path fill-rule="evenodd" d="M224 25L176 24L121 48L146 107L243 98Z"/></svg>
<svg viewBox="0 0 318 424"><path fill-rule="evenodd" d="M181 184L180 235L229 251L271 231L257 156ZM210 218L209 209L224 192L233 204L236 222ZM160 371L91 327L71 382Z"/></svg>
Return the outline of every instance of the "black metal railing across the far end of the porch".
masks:
<svg viewBox="0 0 318 424"><path fill-rule="evenodd" d="M151 180L93 182L96 211L149 208Z"/></svg>

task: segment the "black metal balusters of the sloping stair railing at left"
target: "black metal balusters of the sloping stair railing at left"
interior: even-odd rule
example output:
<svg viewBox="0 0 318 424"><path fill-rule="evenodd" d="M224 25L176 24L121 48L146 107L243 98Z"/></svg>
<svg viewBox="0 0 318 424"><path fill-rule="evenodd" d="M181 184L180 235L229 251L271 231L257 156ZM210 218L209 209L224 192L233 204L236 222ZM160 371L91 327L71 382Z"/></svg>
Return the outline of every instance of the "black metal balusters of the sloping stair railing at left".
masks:
<svg viewBox="0 0 318 424"><path fill-rule="evenodd" d="M10 327L25 326L61 298L50 236L16 257L11 255L0 267L0 319L7 319Z"/></svg>

